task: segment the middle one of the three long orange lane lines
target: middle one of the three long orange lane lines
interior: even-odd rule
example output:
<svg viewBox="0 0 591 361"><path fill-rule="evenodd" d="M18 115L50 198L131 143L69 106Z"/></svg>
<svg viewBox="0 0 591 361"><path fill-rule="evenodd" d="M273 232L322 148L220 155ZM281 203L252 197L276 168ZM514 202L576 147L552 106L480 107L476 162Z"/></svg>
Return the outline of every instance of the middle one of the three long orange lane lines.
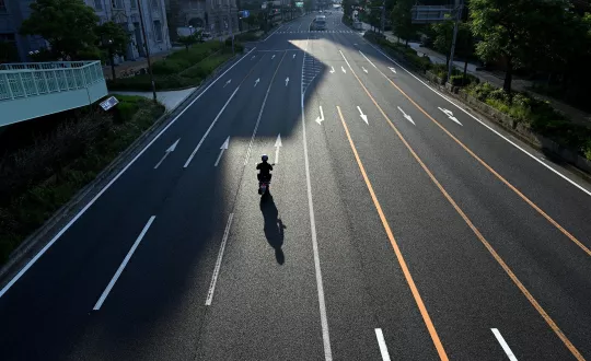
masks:
<svg viewBox="0 0 591 361"><path fill-rule="evenodd" d="M345 58L345 56L343 56L343 58ZM348 63L348 62L347 62ZM402 142L404 143L404 145L406 145L406 148L408 149L408 151L410 152L410 154L415 158L415 160L419 163L419 165L422 167L422 170L427 173L427 175L429 176L429 178L431 178L431 180L436 184L436 186L439 188L439 190L443 194L443 196L448 199L448 201L452 205L452 207L455 209L455 211L462 217L462 219L464 220L464 222L466 222L466 224L471 228L471 230L474 232L474 234L476 235L476 237L480 241L480 243L486 247L486 249L488 249L488 252L490 253L490 255L493 255L493 257L495 258L495 260L502 267L502 269L507 272L507 275L509 276L509 278L511 278L511 280L513 281L513 283L515 283L515 286L519 288L519 290L523 293L523 295L525 295L525 298L528 299L528 301L530 301L530 303L534 306L534 308L537 311L537 313L540 313L540 315L544 318L544 321L548 324L548 326L552 328L552 330L556 334L556 336L558 336L558 338L563 341L563 343L568 348L568 350L572 353L572 356L579 360L579 361L584 361L584 358L582 357L582 354L579 352L579 350L577 350L577 348L575 347L575 345L572 345L572 342L570 342L570 340L566 337L566 335L563 333L563 330L558 327L558 325L556 325L556 323L552 319L552 317L546 313L546 311L542 307L542 305L540 305L540 303L534 299L534 296L530 293L530 291L528 291L528 289L525 288L525 286L523 286L523 283L521 283L521 281L518 279L518 277L515 276L515 273L513 273L513 271L511 270L511 268L509 268L509 266L505 263L505 260L499 256L499 254L495 251L495 248L493 248L493 246L490 245L490 243L488 243L488 241L486 241L486 238L483 236L483 234L480 233L480 231L478 231L478 229L474 225L474 223L472 223L472 221L470 220L470 218L466 216L466 213L464 213L464 211L460 208L460 206L457 206L457 203L453 200L453 198L448 194L448 191L445 190L445 188L443 188L443 186L439 183L439 180L437 180L437 178L434 177L434 175L431 173L431 171L427 167L427 165L425 165L425 163L422 162L422 160L417 155L417 153L415 152L415 150L410 147L410 144L406 141L406 139L402 136L402 133L399 132L399 130L396 128L396 126L394 126L394 123L392 123L392 120L389 118L389 116L385 114L385 112L382 109L382 107L378 104L378 102L375 101L375 98L373 98L373 96L371 95L371 93L369 92L369 90L366 88L366 85L363 85L363 83L361 82L361 80L359 79L359 77L357 77L355 70L352 70L351 66L349 65L349 69L351 70L352 74L355 75L355 78L357 78L357 81L359 82L359 84L361 85L361 88L363 88L363 90L366 91L366 93L368 94L368 96L370 97L370 100L373 102L373 104L375 105L375 107L378 107L378 109L380 110L380 113L382 114L382 116L387 120L387 123L390 124L390 126L392 127L392 129L394 130L394 132L396 132L396 136L398 136L398 138L402 140ZM415 104L416 105L416 104ZM417 105L417 107L419 107ZM420 107L419 107L420 108ZM433 120L434 121L434 120ZM437 123L437 121L436 121Z"/></svg>

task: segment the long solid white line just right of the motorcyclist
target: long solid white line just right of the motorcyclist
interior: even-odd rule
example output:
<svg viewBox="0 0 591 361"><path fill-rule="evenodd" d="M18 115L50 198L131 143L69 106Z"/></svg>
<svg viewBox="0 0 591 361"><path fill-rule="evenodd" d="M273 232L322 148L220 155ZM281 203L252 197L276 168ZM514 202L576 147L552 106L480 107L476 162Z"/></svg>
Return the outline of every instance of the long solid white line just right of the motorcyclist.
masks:
<svg viewBox="0 0 591 361"><path fill-rule="evenodd" d="M305 42L305 49L308 51L308 44L310 38ZM302 61L302 74L303 74L304 63ZM324 301L324 286L322 283L322 272L320 265L318 256L318 240L316 235L316 220L314 218L314 205L312 202L312 182L310 179L310 162L308 160L308 140L305 136L305 112L304 112L304 89L303 81L301 83L301 109L302 109L302 138L303 138L303 149L304 149L304 167L305 167L305 186L308 189L308 207L310 211L310 230L312 232L312 248L314 251L314 269L316 271L316 289L318 291L318 307L321 314L321 325L322 325L322 340L324 345L324 359L325 361L333 361L333 351L331 350L331 335L328 333L328 319L326 317L326 303Z"/></svg>

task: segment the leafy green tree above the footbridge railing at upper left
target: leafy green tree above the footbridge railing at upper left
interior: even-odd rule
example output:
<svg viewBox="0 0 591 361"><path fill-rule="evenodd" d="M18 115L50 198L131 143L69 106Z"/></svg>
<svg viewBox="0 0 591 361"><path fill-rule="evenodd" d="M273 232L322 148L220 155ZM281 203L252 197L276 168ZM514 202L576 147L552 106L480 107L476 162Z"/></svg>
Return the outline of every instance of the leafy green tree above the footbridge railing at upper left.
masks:
<svg viewBox="0 0 591 361"><path fill-rule="evenodd" d="M94 31L99 16L82 0L37 0L31 3L31 10L21 34L40 35L55 58L83 60L99 53Z"/></svg>

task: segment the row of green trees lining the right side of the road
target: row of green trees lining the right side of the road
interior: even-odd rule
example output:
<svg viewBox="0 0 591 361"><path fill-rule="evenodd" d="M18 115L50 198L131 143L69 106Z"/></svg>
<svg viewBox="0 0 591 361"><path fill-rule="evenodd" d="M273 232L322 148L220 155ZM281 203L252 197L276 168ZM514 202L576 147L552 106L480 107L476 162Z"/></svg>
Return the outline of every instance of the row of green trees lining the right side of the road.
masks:
<svg viewBox="0 0 591 361"><path fill-rule="evenodd" d="M502 65L507 92L511 91L517 70L543 77L548 83L559 84L571 93L579 93L581 84L591 81L591 15L584 12L586 9L573 8L570 0L463 2L455 54L464 59L476 56L486 63ZM369 8L379 9L382 3L373 0ZM415 3L415 0L385 1L393 33L407 44L417 38L417 34L428 35L437 50L449 55L453 22L413 24L410 10ZM346 16L351 16L351 5L358 7L359 2L343 1ZM363 8L367 7L364 3ZM380 11L370 14L369 22L380 27Z"/></svg>

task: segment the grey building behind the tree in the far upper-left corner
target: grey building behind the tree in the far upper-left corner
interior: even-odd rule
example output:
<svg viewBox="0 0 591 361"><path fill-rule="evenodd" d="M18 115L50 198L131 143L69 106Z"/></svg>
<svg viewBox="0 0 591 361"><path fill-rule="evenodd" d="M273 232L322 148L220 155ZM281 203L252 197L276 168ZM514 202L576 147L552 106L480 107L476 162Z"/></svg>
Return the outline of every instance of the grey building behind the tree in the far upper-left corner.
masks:
<svg viewBox="0 0 591 361"><path fill-rule="evenodd" d="M32 2L31 0L0 0L0 40L14 44L21 61L30 60L30 51L47 46L47 43L39 36L19 34L23 20L31 14L30 4ZM130 42L125 55L126 60L135 60L144 56L137 0L84 0L84 2L94 9L101 18L101 23L113 21L128 32ZM164 0L140 0L140 4L150 54L170 50L172 46Z"/></svg>

